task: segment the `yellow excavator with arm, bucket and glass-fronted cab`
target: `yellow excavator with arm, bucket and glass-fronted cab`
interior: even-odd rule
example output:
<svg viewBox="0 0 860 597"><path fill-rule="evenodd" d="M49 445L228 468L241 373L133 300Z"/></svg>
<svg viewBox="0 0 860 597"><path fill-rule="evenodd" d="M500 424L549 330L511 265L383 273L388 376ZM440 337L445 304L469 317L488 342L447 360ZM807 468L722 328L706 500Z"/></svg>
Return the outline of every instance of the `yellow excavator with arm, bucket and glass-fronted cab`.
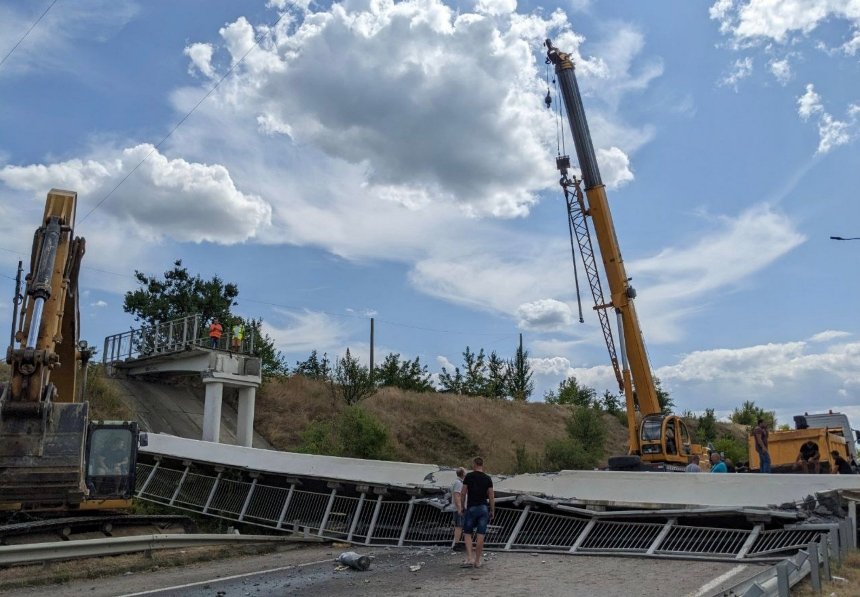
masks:
<svg viewBox="0 0 860 597"><path fill-rule="evenodd" d="M52 189L36 230L20 317L0 393L0 511L128 508L139 429L94 422L79 395L78 274L85 241L74 236L77 193ZM86 364L84 363L84 366Z"/></svg>

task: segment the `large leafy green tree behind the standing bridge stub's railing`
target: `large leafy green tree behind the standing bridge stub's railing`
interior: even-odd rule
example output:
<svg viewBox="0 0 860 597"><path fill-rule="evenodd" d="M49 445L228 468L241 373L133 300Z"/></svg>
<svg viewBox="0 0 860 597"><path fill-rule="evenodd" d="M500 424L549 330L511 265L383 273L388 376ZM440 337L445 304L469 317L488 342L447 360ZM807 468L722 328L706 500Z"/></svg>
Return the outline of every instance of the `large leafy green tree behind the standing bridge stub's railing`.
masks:
<svg viewBox="0 0 860 597"><path fill-rule="evenodd" d="M122 306L136 321L153 325L199 313L204 322L217 317L222 323L232 323L230 309L237 304L239 288L218 276L210 280L192 276L177 259L161 278L137 270L134 277L142 288L126 292Z"/></svg>

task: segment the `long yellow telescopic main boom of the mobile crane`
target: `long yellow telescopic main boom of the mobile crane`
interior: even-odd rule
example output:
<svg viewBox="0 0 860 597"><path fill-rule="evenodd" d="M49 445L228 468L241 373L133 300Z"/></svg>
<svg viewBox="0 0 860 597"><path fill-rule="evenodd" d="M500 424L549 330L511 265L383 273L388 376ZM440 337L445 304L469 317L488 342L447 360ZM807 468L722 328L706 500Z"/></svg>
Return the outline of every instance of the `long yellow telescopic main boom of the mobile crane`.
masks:
<svg viewBox="0 0 860 597"><path fill-rule="evenodd" d="M627 355L627 364L632 375L633 387L626 388L628 415L631 409L631 392L635 391L636 402L642 415L660 412L657 391L645 351L645 342L636 316L633 304L635 292L630 286L624 262L621 259L621 249L615 234L615 225L609 211L609 201L606 189L600 178L597 157L588 130L588 121L579 93L579 85L574 74L573 60L570 55L553 47L550 40L546 41L547 61L555 65L556 77L561 89L564 107L570 123L571 133L576 146L576 155L582 172L585 186L585 196L588 200L587 214L591 217L597 245L603 259L606 282L612 306L620 313L623 332L623 347Z"/></svg>

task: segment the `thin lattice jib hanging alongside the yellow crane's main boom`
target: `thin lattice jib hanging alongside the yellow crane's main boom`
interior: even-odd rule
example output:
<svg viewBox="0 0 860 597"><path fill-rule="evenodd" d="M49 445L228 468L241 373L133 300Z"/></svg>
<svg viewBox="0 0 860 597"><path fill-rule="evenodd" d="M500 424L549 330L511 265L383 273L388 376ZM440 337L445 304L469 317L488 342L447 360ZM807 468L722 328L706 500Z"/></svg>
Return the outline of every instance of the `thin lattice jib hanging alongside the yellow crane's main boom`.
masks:
<svg viewBox="0 0 860 597"><path fill-rule="evenodd" d="M562 178L564 198L567 203L567 217L570 220L571 229L576 236L579 246L579 255L582 257L582 265L591 288L591 296L594 298L594 309L600 319L600 329L603 331L603 339L606 341L606 349L609 351L609 360L615 371L615 379L618 381L618 389L624 392L624 379L621 377L621 367L618 365L618 353L615 351L615 339L612 336L612 327L609 324L609 313L606 300L603 298L603 286L600 284L600 272L597 270L597 262L594 259L594 246L591 244L591 232L586 219L587 210L585 199L582 195L579 181L569 181L567 177ZM570 188L573 188L571 192ZM573 241L573 238L570 239Z"/></svg>

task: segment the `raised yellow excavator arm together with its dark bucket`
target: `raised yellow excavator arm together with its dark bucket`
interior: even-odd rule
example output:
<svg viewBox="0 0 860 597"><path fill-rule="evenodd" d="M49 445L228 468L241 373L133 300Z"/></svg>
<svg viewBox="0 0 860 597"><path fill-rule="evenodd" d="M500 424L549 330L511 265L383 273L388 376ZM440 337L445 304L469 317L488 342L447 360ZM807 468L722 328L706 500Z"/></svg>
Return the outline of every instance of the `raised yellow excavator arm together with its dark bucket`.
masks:
<svg viewBox="0 0 860 597"><path fill-rule="evenodd" d="M88 404L76 401L77 193L52 189L36 230L11 380L0 395L0 509L80 503ZM13 326L19 322L13 322Z"/></svg>

